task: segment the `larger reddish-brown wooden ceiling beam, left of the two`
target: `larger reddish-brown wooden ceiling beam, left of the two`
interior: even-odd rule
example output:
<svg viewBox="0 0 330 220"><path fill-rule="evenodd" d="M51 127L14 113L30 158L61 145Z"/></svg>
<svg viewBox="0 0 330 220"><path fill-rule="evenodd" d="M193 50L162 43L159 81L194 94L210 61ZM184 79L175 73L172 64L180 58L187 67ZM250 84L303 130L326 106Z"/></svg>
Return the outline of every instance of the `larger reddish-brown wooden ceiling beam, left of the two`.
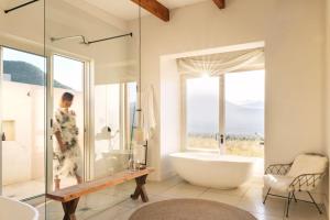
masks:
<svg viewBox="0 0 330 220"><path fill-rule="evenodd" d="M146 11L151 12L155 16L162 19L165 22L169 21L169 10L160 3L157 0L131 0L139 4Z"/></svg>

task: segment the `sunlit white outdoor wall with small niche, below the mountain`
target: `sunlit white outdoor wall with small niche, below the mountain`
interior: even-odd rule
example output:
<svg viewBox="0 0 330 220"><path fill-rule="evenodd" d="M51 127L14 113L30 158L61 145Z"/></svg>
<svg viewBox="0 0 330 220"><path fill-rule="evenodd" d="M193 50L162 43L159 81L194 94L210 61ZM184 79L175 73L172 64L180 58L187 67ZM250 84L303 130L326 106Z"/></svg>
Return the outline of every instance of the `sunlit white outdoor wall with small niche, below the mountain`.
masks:
<svg viewBox="0 0 330 220"><path fill-rule="evenodd" d="M14 121L14 140L3 142L3 185L31 179L32 174L32 97L33 86L2 82L3 120ZM14 100L14 101L13 101Z"/></svg>

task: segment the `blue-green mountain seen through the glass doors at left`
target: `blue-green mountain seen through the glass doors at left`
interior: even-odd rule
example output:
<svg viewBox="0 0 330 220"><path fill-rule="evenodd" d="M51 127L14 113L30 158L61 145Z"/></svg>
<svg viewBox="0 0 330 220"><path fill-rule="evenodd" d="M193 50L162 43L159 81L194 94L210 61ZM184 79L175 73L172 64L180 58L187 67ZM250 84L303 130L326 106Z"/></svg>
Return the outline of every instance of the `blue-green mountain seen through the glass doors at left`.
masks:
<svg viewBox="0 0 330 220"><path fill-rule="evenodd" d="M3 73L10 76L11 81L45 86L45 73L38 67L25 62L4 61ZM72 89L56 80L54 80L54 87Z"/></svg>

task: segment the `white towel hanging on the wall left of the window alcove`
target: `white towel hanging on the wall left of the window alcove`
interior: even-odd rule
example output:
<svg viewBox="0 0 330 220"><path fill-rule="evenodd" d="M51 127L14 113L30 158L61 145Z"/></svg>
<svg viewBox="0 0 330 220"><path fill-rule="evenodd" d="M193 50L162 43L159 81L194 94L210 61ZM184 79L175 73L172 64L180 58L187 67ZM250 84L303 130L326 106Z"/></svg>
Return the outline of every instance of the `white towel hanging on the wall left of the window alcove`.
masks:
<svg viewBox="0 0 330 220"><path fill-rule="evenodd" d="M146 87L141 94L141 129L143 130L143 138L145 141L152 139L156 129L156 119L154 112L154 88Z"/></svg>

